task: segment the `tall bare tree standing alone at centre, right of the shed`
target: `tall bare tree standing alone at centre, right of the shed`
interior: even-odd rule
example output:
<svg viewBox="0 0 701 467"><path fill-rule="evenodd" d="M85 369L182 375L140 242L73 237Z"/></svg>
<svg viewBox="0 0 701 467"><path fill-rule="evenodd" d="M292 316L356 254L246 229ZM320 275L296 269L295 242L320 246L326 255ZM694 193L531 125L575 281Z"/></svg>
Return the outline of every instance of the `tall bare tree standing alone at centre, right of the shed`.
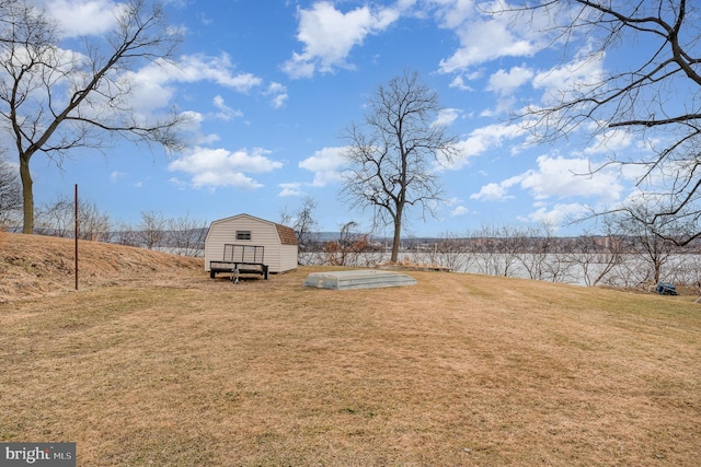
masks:
<svg viewBox="0 0 701 467"><path fill-rule="evenodd" d="M369 103L365 126L347 131L349 170L341 197L353 207L371 209L376 223L394 229L390 261L397 261L405 210L421 207L433 214L440 187L432 162L450 160L453 137L436 124L438 96L405 72L381 85Z"/></svg>

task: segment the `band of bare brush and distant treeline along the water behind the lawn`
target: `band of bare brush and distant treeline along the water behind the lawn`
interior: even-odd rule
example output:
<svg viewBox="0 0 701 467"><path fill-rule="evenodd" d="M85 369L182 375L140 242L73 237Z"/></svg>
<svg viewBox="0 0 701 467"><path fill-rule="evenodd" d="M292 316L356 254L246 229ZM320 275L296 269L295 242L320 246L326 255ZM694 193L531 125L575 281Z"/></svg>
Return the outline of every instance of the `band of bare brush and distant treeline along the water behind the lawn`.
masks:
<svg viewBox="0 0 701 467"><path fill-rule="evenodd" d="M35 233L74 237L73 200L59 199L36 212ZM407 237L400 245L401 260L585 285L650 287L662 279L701 284L699 238L679 246L631 217L612 217L602 225L601 232L566 237L556 236L550 225L482 226L436 237ZM19 231L7 219L0 226ZM80 203L78 212L79 238L183 256L203 256L208 226L207 221L189 215L166 218L158 212L141 212L136 224L115 223L91 202ZM299 262L361 267L384 262L391 240L357 229L357 223L348 222L340 232L297 232ZM679 229L675 232L685 234Z"/></svg>

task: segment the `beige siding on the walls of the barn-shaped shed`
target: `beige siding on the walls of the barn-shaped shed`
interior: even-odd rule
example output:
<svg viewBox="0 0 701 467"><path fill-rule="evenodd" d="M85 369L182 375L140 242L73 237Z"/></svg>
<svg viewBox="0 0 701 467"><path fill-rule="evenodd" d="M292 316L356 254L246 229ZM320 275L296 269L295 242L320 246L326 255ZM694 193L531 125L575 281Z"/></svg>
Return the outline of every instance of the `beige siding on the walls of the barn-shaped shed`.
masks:
<svg viewBox="0 0 701 467"><path fill-rule="evenodd" d="M251 240L237 240L237 231L251 231ZM227 243L264 246L263 262L268 266L271 272L283 272L297 268L297 245L283 245L277 224L274 222L249 214L214 221L205 240L206 271L209 271L210 261L222 259L223 245Z"/></svg>

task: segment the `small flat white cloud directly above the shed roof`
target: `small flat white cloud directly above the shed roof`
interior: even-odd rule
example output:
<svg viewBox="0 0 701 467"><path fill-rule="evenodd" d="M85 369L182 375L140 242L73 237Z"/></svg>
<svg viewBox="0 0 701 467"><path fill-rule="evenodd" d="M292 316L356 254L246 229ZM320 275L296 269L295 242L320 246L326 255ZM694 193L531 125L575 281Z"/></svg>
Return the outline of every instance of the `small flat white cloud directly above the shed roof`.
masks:
<svg viewBox="0 0 701 467"><path fill-rule="evenodd" d="M231 186L253 189L258 184L245 173L264 173L280 168L283 164L267 157L269 151L255 148L249 152L241 149L234 152L226 149L194 148L186 154L169 164L172 172L185 172L192 176L195 188Z"/></svg>

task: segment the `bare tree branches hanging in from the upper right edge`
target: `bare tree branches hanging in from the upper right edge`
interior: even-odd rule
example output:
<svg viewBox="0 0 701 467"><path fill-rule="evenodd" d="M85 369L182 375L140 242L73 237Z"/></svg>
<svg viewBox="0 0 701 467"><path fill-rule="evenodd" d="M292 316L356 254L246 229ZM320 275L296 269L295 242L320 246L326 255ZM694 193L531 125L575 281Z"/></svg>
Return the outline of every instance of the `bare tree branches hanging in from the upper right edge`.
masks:
<svg viewBox="0 0 701 467"><path fill-rule="evenodd" d="M504 10L501 13L505 13ZM659 209L648 229L685 218L701 235L701 17L689 0L542 0L510 10L519 21L548 24L551 45L571 63L599 60L621 44L644 44L609 72L560 90L545 107L521 115L543 140L570 138L579 128L606 139L625 131L647 147L639 154L611 154L610 164L635 165L640 187L656 192ZM548 21L543 21L548 17ZM586 45L586 47L583 47ZM599 167L599 170L602 167ZM594 170L596 172L596 168ZM643 221L643 219L640 219Z"/></svg>

